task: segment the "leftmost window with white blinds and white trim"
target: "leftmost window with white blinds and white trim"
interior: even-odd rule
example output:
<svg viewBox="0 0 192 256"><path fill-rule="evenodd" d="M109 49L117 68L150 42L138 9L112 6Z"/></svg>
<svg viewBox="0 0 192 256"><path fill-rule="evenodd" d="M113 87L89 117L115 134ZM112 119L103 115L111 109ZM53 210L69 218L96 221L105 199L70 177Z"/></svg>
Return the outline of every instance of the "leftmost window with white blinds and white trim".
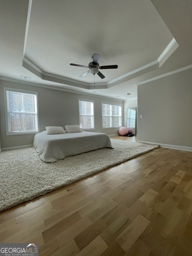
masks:
<svg viewBox="0 0 192 256"><path fill-rule="evenodd" d="M37 92L4 88L7 135L38 132Z"/></svg>

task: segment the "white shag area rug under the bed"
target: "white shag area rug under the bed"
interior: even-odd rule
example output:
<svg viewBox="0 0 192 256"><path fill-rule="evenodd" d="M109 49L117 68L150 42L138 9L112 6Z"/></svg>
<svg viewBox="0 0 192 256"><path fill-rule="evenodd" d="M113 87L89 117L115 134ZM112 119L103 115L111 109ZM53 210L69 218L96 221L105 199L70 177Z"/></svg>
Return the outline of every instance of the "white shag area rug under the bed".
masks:
<svg viewBox="0 0 192 256"><path fill-rule="evenodd" d="M0 211L159 147L115 139L111 139L111 142L114 149L98 149L68 156L54 163L40 160L32 147L1 152Z"/></svg>

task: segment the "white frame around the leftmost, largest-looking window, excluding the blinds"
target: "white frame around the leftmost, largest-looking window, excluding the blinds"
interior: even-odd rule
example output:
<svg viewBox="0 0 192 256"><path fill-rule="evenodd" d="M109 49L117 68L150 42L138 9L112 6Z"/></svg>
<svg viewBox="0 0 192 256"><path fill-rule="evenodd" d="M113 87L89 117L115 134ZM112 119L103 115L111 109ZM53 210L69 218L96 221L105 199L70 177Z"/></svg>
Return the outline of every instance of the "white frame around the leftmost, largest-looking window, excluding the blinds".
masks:
<svg viewBox="0 0 192 256"><path fill-rule="evenodd" d="M10 132L10 120L8 117L8 106L7 106L7 91L10 92L18 92L18 93L23 93L23 94L34 94L36 95L36 122L37 122L37 130L36 131L29 131L29 132ZM17 89L17 88L9 88L9 87L4 87L4 106L5 106L5 121L6 121L6 135L23 135L23 134L36 134L39 132L39 107L38 107L38 92L30 91L30 90L22 90L22 89ZM21 112L24 113L24 112Z"/></svg>

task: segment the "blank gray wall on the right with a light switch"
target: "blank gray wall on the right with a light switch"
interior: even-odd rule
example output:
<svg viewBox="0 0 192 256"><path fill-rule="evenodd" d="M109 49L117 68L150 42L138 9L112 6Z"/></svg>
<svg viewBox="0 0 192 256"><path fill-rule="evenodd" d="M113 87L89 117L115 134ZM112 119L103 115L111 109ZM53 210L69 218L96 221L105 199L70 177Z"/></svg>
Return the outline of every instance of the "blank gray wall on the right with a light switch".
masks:
<svg viewBox="0 0 192 256"><path fill-rule="evenodd" d="M138 140L192 147L191 113L192 69L138 86Z"/></svg>

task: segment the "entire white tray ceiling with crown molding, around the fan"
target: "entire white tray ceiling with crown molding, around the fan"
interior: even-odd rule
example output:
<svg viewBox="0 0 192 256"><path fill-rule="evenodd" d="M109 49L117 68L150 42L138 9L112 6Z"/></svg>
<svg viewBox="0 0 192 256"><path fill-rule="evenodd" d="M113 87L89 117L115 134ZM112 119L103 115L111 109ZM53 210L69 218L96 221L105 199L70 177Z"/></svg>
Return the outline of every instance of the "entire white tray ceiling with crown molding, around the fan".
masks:
<svg viewBox="0 0 192 256"><path fill-rule="evenodd" d="M191 13L191 0L1 0L0 79L136 98L136 84L192 64ZM100 66L118 64L95 87L70 66L94 53Z"/></svg>

